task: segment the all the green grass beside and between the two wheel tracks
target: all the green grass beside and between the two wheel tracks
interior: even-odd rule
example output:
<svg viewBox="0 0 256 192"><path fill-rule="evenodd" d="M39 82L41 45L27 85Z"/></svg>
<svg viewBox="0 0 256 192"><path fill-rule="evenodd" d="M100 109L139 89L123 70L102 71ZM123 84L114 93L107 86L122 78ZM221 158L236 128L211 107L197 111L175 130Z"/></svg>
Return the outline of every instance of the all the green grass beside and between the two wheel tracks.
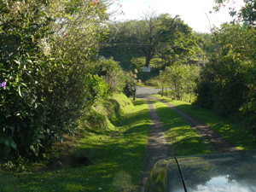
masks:
<svg viewBox="0 0 256 192"><path fill-rule="evenodd" d="M188 102L162 99L211 125L239 148L256 148L255 134L231 125L229 119ZM66 166L44 172L0 171L0 191L139 191L151 119L147 102L137 99L133 104L135 107L123 95L113 96L98 107L99 113L108 116L106 129L80 125L81 137L73 143L72 155L88 156L90 166ZM154 108L162 121L170 156L216 153L198 131L166 104L154 101Z"/></svg>

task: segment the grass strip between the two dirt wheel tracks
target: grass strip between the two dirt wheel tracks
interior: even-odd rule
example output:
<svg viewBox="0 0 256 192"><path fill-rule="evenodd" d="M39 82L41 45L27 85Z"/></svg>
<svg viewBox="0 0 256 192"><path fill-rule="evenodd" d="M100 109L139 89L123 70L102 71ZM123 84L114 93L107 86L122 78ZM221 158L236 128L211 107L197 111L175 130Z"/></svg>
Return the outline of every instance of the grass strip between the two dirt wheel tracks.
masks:
<svg viewBox="0 0 256 192"><path fill-rule="evenodd" d="M154 101L154 108L166 134L170 156L217 153L212 145L201 137L200 132L193 130L179 114L166 104Z"/></svg>

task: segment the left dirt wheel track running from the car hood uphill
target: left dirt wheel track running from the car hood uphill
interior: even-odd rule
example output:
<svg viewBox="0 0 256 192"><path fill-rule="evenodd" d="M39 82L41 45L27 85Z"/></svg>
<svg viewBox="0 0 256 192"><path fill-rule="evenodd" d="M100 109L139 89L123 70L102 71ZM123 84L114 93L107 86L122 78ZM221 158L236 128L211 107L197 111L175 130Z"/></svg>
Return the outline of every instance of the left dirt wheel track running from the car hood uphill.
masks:
<svg viewBox="0 0 256 192"><path fill-rule="evenodd" d="M143 178L141 180L141 192L144 192L145 190L148 175L154 164L158 160L168 157L166 137L162 131L160 118L154 109L153 102L150 102L148 97L143 98L143 100L148 102L149 115L150 118L153 119L153 125L150 126L148 131L147 160Z"/></svg>

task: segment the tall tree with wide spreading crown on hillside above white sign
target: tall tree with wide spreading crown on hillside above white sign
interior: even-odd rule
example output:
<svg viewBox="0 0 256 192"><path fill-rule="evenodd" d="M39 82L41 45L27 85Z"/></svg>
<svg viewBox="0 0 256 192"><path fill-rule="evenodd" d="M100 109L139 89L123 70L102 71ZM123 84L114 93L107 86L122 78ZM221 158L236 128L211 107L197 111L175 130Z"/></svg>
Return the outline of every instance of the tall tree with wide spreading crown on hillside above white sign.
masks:
<svg viewBox="0 0 256 192"><path fill-rule="evenodd" d="M149 9L136 24L132 37L145 55L146 67L158 52L189 55L195 46L192 29L178 15L157 15Z"/></svg>

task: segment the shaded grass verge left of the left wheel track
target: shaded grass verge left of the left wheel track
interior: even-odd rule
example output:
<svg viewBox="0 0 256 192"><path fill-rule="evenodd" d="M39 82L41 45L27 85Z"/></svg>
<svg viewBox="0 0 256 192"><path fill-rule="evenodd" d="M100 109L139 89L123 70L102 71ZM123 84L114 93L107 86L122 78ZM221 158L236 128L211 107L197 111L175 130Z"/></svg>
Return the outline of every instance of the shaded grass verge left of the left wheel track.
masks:
<svg viewBox="0 0 256 192"><path fill-rule="evenodd" d="M115 131L87 130L74 143L73 155L86 155L90 166L44 172L0 171L0 191L138 191L150 119L146 102L137 100L134 105L125 119L113 120L119 122Z"/></svg>

